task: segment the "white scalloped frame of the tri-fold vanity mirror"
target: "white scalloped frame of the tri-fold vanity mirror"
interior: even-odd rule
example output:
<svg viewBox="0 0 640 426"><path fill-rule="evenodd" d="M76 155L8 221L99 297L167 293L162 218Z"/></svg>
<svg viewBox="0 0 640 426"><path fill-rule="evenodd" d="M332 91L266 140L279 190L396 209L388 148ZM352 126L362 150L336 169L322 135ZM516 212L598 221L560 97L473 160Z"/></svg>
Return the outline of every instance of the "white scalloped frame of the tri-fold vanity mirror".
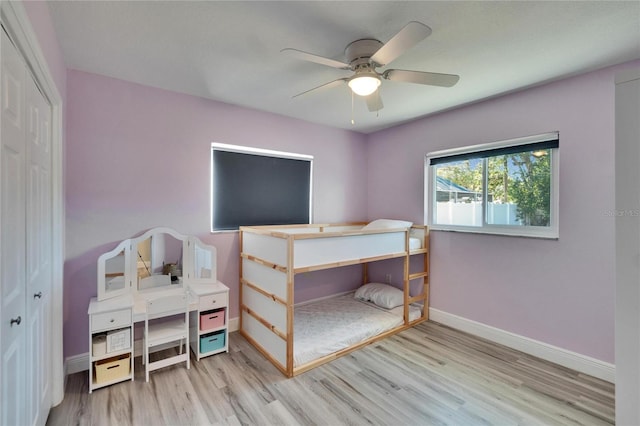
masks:
<svg viewBox="0 0 640 426"><path fill-rule="evenodd" d="M120 242L113 250L103 253L98 257L98 300L111 299L129 293L138 293L138 244L147 238L152 238L159 234L169 234L173 238L182 241L182 281L172 285L171 288L185 287L189 284L215 284L217 282L217 251L214 246L204 244L198 237L182 235L168 227L157 227L149 229L142 235L129 238ZM134 251L135 247L135 251ZM196 250L205 250L211 253L211 277L197 277L195 271ZM106 289L106 262L124 251L125 271L124 287L122 289L107 291ZM156 288L157 290L158 288ZM143 290L145 291L145 290Z"/></svg>

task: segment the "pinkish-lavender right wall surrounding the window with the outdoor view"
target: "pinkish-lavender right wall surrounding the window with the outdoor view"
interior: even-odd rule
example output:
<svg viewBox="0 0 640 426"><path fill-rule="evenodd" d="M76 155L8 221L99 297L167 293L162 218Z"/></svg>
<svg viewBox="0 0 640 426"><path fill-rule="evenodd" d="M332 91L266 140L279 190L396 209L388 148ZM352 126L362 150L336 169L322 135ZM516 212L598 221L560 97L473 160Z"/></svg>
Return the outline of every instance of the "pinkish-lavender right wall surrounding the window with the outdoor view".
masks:
<svg viewBox="0 0 640 426"><path fill-rule="evenodd" d="M614 362L614 221L606 212L614 208L613 79L621 68L369 137L369 218L423 223L426 153L560 132L559 240L433 231L433 308Z"/></svg>

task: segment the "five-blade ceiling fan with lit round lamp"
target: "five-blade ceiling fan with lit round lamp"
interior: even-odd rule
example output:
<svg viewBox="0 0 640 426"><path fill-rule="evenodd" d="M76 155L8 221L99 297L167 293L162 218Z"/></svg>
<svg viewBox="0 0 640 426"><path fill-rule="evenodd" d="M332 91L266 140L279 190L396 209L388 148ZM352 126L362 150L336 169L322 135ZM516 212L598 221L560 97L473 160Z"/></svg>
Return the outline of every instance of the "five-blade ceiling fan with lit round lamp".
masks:
<svg viewBox="0 0 640 426"><path fill-rule="evenodd" d="M365 98L369 111L379 111L383 108L382 98L378 90L382 79L426 84L429 86L451 87L458 82L460 76L455 74L395 69L388 69L383 72L376 71L376 68L388 65L405 51L427 38L429 34L431 34L431 28L428 26L416 21L409 22L386 43L382 43L376 39L362 39L350 43L344 51L346 62L325 58L298 49L282 49L282 53L297 59L315 62L332 68L353 71L351 77L330 81L329 83L299 93L295 95L294 98L319 89L328 89L347 83L353 93Z"/></svg>

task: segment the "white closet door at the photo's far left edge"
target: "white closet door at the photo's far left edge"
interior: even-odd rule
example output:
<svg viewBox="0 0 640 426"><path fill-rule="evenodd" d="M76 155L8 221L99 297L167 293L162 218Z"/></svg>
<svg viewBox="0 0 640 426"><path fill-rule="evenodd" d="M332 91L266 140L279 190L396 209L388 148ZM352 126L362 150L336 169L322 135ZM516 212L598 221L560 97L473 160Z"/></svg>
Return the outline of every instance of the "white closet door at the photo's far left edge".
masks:
<svg viewBox="0 0 640 426"><path fill-rule="evenodd" d="M2 32L0 58L0 424L25 418L25 65Z"/></svg>

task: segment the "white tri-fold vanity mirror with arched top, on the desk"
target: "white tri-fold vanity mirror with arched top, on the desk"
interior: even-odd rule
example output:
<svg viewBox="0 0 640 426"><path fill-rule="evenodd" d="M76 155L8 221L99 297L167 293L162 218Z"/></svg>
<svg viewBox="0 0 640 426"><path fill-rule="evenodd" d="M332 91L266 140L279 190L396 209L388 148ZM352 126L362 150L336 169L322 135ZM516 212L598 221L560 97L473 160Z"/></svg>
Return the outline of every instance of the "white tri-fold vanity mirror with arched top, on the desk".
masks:
<svg viewBox="0 0 640 426"><path fill-rule="evenodd" d="M98 300L215 283L216 249L171 228L153 228L98 258Z"/></svg>

